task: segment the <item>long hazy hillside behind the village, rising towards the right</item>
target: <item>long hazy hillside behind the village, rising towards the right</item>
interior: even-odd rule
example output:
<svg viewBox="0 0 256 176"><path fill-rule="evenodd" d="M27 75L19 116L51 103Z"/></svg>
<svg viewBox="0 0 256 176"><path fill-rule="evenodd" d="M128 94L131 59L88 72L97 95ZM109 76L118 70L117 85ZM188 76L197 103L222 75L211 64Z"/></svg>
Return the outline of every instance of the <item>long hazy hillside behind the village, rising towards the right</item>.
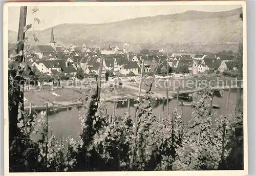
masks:
<svg viewBox="0 0 256 176"><path fill-rule="evenodd" d="M105 24L61 24L54 27L54 37L60 45L86 43L98 46L101 43L130 42L134 45L158 46L198 45L236 49L233 44L242 42L242 8L225 12L186 11L170 15L138 17ZM9 31L9 42L16 41L17 33ZM36 31L41 45L47 45L51 29ZM29 37L31 32L26 35ZM232 45L230 45L232 44ZM113 44L114 45L114 44ZM236 46L236 45L235 45ZM202 48L202 47L201 47Z"/></svg>

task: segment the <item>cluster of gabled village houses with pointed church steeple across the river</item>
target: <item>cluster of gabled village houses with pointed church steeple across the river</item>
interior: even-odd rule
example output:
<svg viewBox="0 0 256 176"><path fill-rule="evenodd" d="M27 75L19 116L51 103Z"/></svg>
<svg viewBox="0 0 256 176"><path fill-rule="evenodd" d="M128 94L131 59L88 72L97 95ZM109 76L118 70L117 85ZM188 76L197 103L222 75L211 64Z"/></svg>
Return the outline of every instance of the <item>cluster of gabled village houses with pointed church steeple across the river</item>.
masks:
<svg viewBox="0 0 256 176"><path fill-rule="evenodd" d="M117 72L122 77L139 75L142 60L144 60L144 73L148 75L154 72L159 60L163 68L159 68L157 75L164 75L167 73L166 67L169 67L169 73L176 77L183 74L197 76L204 73L236 72L238 67L234 56L221 52L219 55L206 55L167 53L164 49L144 49L135 53L127 51L125 49L127 46L129 43L123 43L122 47L104 43L103 47L90 48L83 43L82 46L73 44L62 47L55 42L52 28L49 45L36 46L33 50L35 56L29 60L28 64L31 68L47 75L63 73L72 77L76 75L78 69L82 69L87 75L98 75L100 57L103 57L102 73L105 76L102 78L106 81L109 76Z"/></svg>

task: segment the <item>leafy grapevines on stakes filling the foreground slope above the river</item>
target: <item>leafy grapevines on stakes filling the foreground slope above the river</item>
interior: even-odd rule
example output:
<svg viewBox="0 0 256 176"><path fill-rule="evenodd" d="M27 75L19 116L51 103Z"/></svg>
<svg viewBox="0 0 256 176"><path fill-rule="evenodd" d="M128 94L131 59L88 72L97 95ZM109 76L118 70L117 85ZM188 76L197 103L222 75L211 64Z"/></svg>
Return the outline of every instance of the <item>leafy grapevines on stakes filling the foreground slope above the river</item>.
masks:
<svg viewBox="0 0 256 176"><path fill-rule="evenodd" d="M19 68L9 70L8 76L10 172L243 169L242 103L238 103L234 121L219 116L212 125L211 105L206 101L214 91L205 89L188 125L182 122L178 108L167 108L159 118L151 103L155 75L146 94L137 98L135 117L108 115L98 84L97 89L83 92L79 140L48 139L48 112L38 119L35 112L24 111L24 83L19 83L26 71L24 60L32 55L29 51L28 47L17 52Z"/></svg>

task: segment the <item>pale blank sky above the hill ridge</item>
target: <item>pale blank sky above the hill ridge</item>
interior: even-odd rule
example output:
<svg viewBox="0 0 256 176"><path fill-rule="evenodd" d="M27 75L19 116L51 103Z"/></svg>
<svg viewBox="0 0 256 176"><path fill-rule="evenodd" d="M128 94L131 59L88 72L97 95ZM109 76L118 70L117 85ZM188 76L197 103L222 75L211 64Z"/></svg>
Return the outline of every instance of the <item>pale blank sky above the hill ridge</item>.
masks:
<svg viewBox="0 0 256 176"><path fill-rule="evenodd" d="M37 7L36 17L40 24L35 24L35 30L46 29L63 23L100 24L119 21L128 18L156 16L181 13L187 10L198 11L228 11L242 7L241 5L197 5L197 6L69 6L69 7ZM33 24L34 15L28 7L27 24ZM8 28L17 31L19 7L8 7Z"/></svg>

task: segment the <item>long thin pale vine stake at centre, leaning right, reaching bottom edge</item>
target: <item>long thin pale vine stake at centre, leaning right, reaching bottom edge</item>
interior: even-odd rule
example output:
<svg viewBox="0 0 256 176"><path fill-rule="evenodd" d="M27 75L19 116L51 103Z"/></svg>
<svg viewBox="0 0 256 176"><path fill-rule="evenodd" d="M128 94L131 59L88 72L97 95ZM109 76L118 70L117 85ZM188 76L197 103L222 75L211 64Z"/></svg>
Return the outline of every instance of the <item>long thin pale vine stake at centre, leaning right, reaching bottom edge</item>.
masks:
<svg viewBox="0 0 256 176"><path fill-rule="evenodd" d="M142 65L141 65L140 84L139 84L139 99L140 99L140 92L141 92L143 71L144 71L144 59L142 60ZM133 135L134 138L133 138L132 157L131 157L131 161L130 161L130 169L131 169L131 170L133 169L134 152L135 152L135 147L136 147L137 126L138 126L137 111L138 111L138 106L136 107L135 117L134 117L134 121L135 121L135 125L134 125L134 135Z"/></svg>

